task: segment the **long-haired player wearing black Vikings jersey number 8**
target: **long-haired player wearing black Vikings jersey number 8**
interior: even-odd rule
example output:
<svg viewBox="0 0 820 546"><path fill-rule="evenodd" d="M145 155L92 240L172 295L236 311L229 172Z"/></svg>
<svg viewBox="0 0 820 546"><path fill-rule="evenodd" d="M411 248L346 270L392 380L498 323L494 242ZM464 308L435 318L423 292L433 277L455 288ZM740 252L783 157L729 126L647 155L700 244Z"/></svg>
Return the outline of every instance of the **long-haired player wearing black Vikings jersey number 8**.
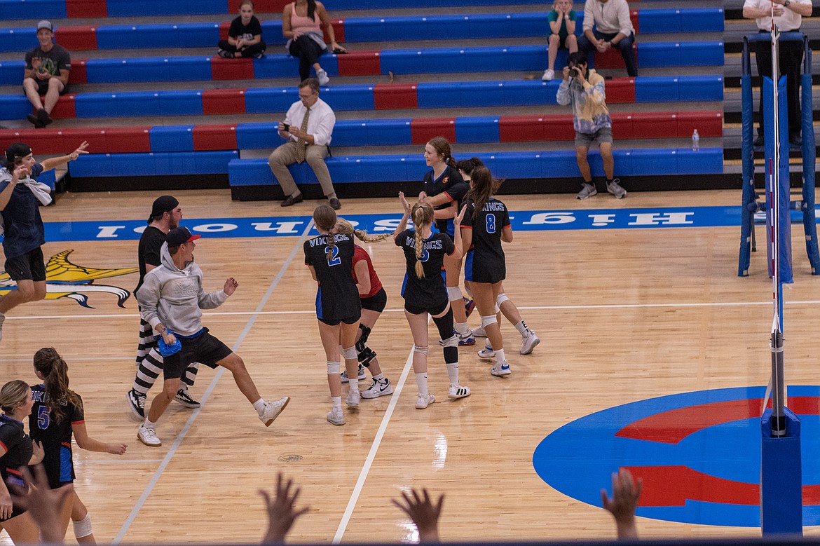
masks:
<svg viewBox="0 0 820 546"><path fill-rule="evenodd" d="M509 375L510 366L504 357L501 328L496 317L496 299L501 293L501 281L507 276L507 265L501 241L512 242L512 225L507 206L493 197L493 176L485 166L472 171L470 193L467 193L467 213L461 226L464 247L468 248L464 279L470 281L476 306L481 313L481 327L494 349L496 364L492 375Z"/></svg>

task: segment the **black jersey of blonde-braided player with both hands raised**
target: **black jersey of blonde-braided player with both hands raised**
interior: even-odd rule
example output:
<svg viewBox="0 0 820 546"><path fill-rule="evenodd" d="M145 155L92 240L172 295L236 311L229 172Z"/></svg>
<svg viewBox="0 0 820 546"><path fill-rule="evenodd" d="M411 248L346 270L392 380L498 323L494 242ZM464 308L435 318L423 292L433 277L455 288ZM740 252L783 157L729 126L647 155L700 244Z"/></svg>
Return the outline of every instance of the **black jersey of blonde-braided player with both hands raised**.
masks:
<svg viewBox="0 0 820 546"><path fill-rule="evenodd" d="M446 303L449 298L441 266L444 255L449 256L455 250L453 239L445 233L433 233L430 239L424 239L420 258L424 267L423 279L416 275L416 231L402 231L396 236L395 243L404 251L408 268L402 286L403 298L416 307L436 307Z"/></svg>

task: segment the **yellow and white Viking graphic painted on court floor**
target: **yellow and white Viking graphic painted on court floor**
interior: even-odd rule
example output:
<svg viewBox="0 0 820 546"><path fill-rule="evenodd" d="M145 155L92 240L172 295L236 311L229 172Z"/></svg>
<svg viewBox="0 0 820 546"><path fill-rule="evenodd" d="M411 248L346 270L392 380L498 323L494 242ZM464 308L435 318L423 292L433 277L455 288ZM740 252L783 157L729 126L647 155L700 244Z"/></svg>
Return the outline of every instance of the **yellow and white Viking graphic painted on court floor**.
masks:
<svg viewBox="0 0 820 546"><path fill-rule="evenodd" d="M68 261L68 255L74 249L64 250L49 258L46 264L46 299L71 298L83 307L89 305L87 293L105 292L116 296L116 304L125 307L125 300L131 295L130 290L107 284L93 284L98 279L110 279L121 275L130 275L139 271L137 267L123 267L119 269L96 269L93 267L77 266ZM8 273L0 274L0 296L16 285Z"/></svg>

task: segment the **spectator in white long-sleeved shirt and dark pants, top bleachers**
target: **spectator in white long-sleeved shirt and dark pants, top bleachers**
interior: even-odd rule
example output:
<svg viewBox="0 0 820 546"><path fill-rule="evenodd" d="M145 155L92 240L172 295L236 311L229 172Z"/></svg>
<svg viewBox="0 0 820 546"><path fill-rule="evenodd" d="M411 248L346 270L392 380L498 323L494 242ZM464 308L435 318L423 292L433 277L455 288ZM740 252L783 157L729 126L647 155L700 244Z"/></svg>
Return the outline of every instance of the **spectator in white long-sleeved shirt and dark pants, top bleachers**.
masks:
<svg viewBox="0 0 820 546"><path fill-rule="evenodd" d="M595 25L595 29L592 29ZM586 0L584 4L584 34L578 39L578 51L589 55L590 51L605 52L610 48L621 50L626 63L626 74L638 75L635 64L635 30L629 18L626 0Z"/></svg>

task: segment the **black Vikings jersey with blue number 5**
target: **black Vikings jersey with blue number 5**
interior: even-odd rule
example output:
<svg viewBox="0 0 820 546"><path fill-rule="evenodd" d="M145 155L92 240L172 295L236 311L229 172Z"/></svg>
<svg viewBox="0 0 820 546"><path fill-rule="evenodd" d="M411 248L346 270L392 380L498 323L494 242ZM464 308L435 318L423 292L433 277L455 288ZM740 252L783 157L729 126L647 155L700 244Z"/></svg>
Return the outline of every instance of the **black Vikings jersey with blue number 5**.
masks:
<svg viewBox="0 0 820 546"><path fill-rule="evenodd" d="M85 421L83 411L64 398L61 403L64 408L62 421L57 421L48 407L45 385L35 384L31 387L31 394L34 397L34 407L29 416L29 430L31 439L43 443L43 466L48 481L52 487L73 481L75 475L71 462L71 425Z"/></svg>

